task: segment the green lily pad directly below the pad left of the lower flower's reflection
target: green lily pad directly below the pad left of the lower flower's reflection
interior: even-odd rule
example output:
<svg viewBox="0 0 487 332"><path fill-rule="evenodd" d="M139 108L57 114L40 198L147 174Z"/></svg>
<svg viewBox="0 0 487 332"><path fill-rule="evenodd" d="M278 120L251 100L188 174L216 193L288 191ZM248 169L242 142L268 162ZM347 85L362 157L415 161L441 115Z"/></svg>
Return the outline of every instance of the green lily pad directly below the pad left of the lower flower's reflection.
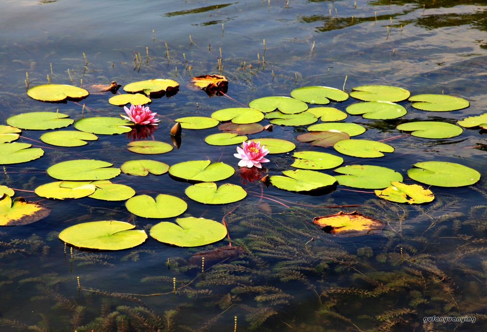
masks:
<svg viewBox="0 0 487 332"><path fill-rule="evenodd" d="M247 192L240 185L222 184L217 188L213 182L203 182L186 188L187 197L204 204L228 204L243 200Z"/></svg>

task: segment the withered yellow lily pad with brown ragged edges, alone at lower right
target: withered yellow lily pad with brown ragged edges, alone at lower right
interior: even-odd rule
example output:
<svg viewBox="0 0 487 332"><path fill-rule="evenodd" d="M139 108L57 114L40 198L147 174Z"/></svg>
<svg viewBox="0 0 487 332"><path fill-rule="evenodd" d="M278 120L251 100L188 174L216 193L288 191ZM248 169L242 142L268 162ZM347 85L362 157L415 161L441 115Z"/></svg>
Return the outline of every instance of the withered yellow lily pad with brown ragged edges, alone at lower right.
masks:
<svg viewBox="0 0 487 332"><path fill-rule="evenodd" d="M345 237L379 234L386 225L357 211L350 213L340 211L328 216L315 217L313 223L320 226L325 233Z"/></svg>

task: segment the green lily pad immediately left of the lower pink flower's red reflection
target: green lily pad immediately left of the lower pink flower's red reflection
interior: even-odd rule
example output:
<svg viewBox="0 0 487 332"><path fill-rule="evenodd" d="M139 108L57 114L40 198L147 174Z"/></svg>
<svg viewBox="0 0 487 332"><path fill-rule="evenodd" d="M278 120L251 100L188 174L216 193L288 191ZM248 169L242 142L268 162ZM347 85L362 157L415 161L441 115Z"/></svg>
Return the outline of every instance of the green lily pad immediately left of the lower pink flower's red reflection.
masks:
<svg viewBox="0 0 487 332"><path fill-rule="evenodd" d="M169 167L169 174L189 181L215 182L225 180L234 173L232 166L222 162L211 163L209 160L192 160Z"/></svg>

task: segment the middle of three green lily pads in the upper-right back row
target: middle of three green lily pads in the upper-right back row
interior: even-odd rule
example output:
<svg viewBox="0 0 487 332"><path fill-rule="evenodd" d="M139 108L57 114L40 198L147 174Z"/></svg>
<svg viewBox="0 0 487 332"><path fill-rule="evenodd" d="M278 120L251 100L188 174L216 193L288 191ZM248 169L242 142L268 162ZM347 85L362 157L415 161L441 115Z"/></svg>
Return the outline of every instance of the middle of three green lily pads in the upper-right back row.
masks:
<svg viewBox="0 0 487 332"><path fill-rule="evenodd" d="M350 95L364 101L398 102L408 99L410 92L403 88L387 85L363 85L353 88Z"/></svg>

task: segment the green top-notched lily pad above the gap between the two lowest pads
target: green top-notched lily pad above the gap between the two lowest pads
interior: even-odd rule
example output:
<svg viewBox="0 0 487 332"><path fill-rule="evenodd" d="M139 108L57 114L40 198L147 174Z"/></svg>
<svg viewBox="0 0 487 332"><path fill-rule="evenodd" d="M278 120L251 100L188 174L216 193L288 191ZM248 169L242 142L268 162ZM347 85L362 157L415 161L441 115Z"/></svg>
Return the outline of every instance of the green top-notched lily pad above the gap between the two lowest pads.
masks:
<svg viewBox="0 0 487 332"><path fill-rule="evenodd" d="M155 200L149 195L134 196L125 202L125 207L139 217L172 218L186 211L187 204L178 197L159 194Z"/></svg>

